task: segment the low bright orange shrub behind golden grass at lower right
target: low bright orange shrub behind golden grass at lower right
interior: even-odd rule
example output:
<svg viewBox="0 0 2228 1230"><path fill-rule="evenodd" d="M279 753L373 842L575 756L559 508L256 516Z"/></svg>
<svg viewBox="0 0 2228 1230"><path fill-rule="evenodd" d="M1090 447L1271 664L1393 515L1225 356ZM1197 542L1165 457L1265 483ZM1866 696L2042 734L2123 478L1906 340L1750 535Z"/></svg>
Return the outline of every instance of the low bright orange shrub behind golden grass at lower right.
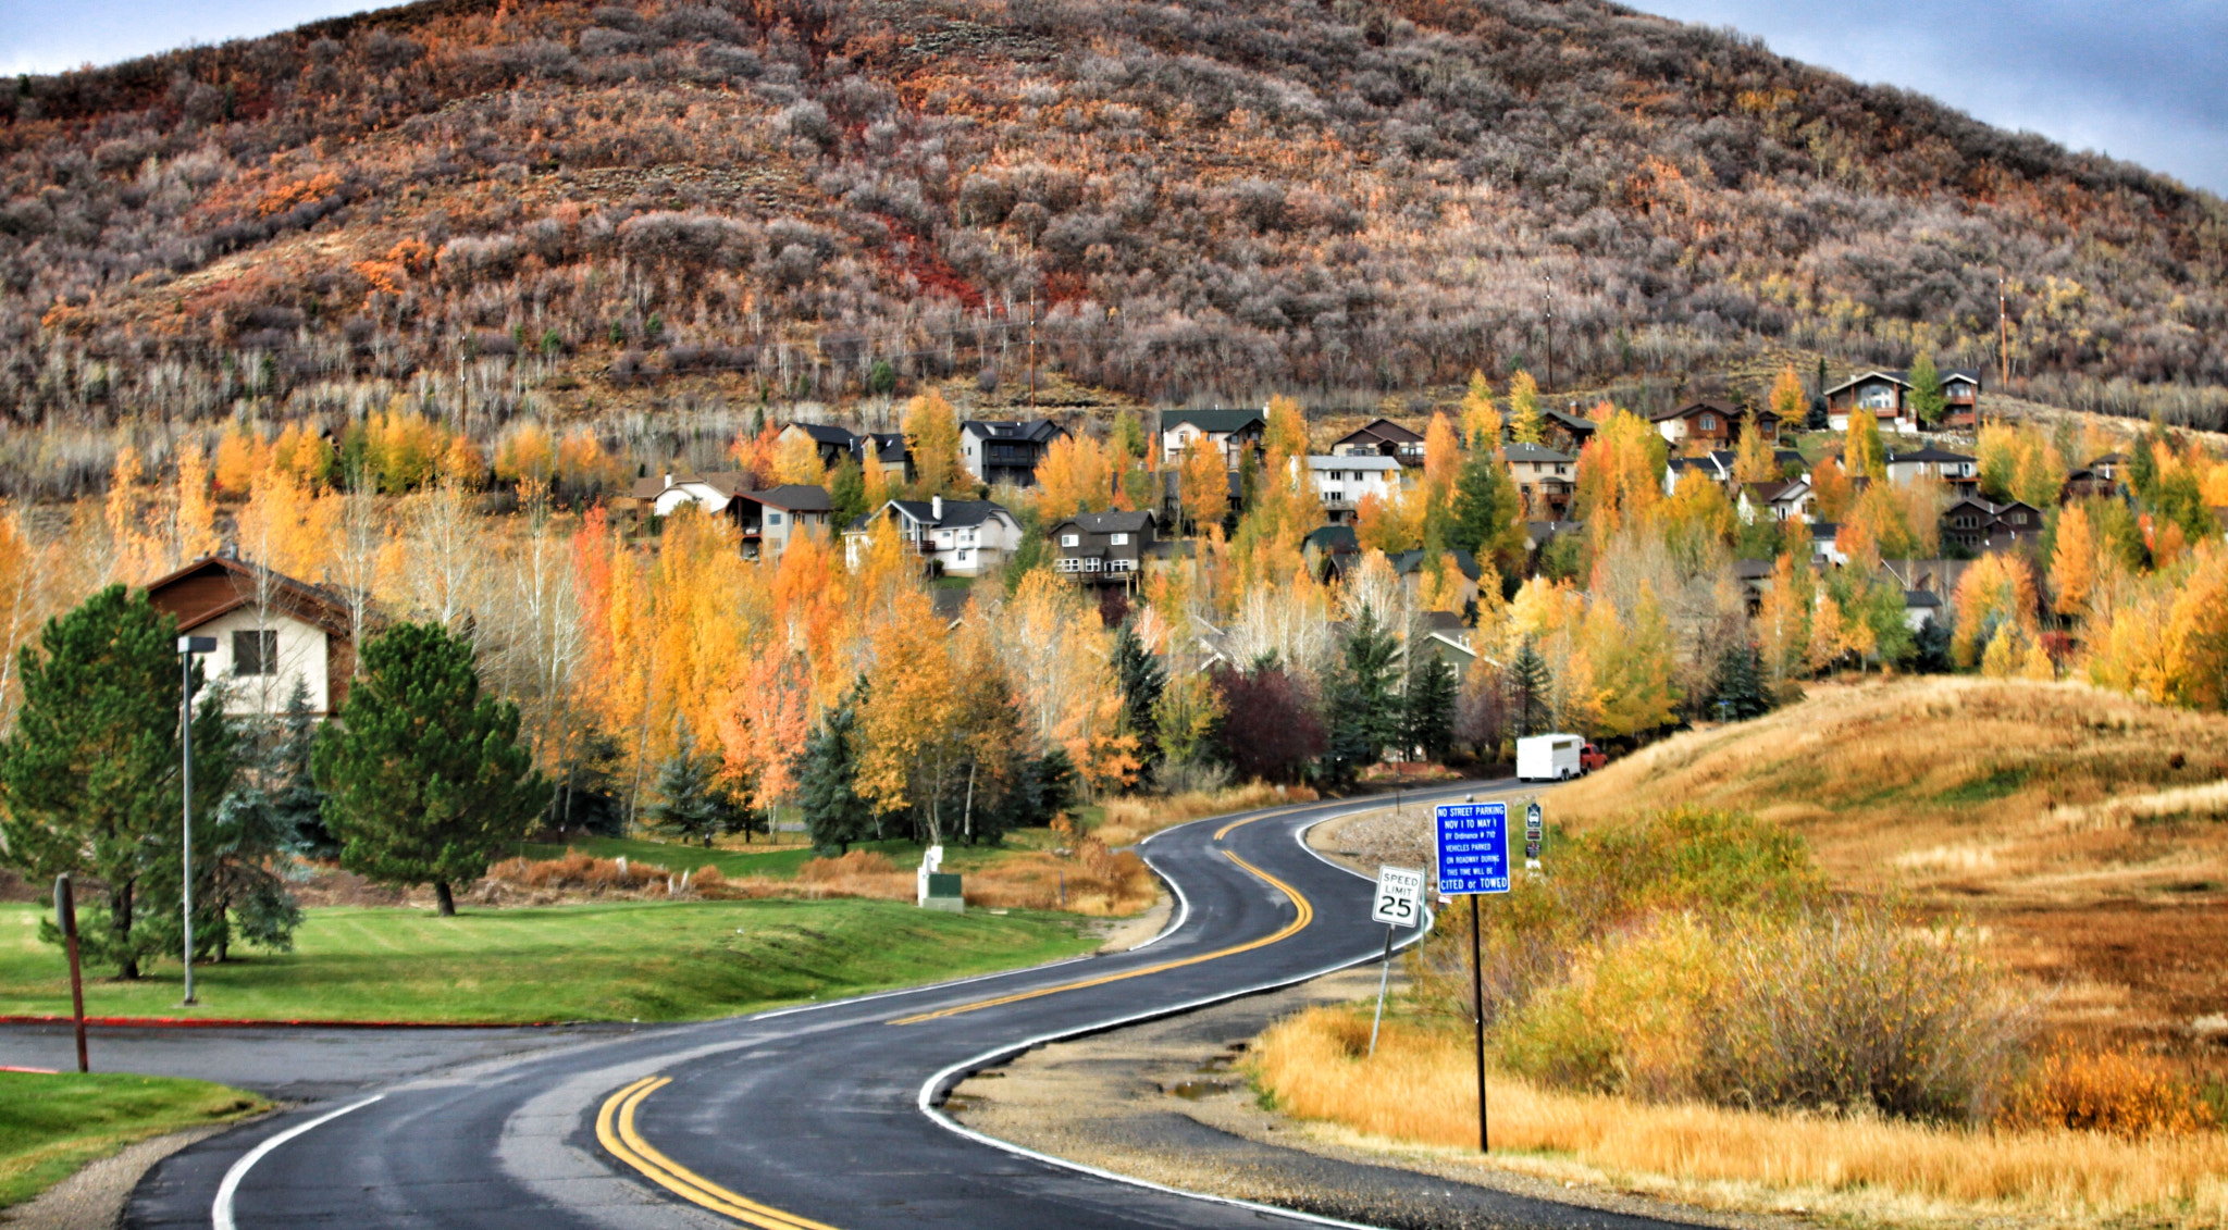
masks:
<svg viewBox="0 0 2228 1230"><path fill-rule="evenodd" d="M2123 1052L2054 1052L2025 1072L1996 1123L2012 1130L2072 1128L2130 1141L2192 1132L2217 1121L2199 1090L2172 1067Z"/></svg>

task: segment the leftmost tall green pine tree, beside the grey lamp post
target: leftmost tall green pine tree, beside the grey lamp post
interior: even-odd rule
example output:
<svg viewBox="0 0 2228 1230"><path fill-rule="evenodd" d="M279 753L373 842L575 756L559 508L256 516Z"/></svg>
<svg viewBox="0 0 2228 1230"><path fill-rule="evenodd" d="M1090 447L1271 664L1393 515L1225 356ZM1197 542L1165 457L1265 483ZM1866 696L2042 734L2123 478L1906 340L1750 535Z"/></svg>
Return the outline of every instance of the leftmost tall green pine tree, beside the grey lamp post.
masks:
<svg viewBox="0 0 2228 1230"><path fill-rule="evenodd" d="M87 911L80 943L123 978L138 978L140 960L178 934L176 918L163 922L178 902L176 633L125 586L49 619L38 646L18 655L22 706L0 742L0 858L33 882L65 871L100 882L105 900ZM189 671L198 689L198 660ZM223 742L221 706L201 706L198 838L227 784Z"/></svg>

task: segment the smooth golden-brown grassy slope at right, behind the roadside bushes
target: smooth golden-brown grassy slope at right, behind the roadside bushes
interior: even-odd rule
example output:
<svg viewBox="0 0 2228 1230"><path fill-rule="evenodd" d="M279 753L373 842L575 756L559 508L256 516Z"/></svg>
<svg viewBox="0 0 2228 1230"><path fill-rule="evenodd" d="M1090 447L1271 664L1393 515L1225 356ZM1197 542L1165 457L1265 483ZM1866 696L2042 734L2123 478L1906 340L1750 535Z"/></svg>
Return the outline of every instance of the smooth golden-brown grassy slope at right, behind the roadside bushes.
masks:
<svg viewBox="0 0 2228 1230"><path fill-rule="evenodd" d="M2079 684L1818 684L1555 793L1564 824L1635 800L1733 807L1814 842L1851 891L1961 911L2059 987L2056 1025L2228 1036L2228 720ZM2199 1025L2210 1016L2210 1025Z"/></svg>

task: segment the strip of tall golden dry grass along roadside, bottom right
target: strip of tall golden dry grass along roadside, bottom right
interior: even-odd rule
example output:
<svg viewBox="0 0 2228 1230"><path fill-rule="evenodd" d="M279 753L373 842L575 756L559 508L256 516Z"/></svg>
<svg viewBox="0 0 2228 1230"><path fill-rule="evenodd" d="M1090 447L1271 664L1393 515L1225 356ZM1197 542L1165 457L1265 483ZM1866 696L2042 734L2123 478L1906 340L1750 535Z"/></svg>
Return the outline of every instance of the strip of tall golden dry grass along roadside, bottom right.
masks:
<svg viewBox="0 0 2228 1230"><path fill-rule="evenodd" d="M1252 1074L1299 1119L1473 1156L1477 1096L1468 1036L1310 1009L1261 1036ZM1693 1103L1644 1105L1493 1078L1493 1165L1615 1183L1713 1208L1843 1214L1851 1221L1970 1226L2228 1226L2228 1136L1952 1130L1880 1119L1758 1114Z"/></svg>

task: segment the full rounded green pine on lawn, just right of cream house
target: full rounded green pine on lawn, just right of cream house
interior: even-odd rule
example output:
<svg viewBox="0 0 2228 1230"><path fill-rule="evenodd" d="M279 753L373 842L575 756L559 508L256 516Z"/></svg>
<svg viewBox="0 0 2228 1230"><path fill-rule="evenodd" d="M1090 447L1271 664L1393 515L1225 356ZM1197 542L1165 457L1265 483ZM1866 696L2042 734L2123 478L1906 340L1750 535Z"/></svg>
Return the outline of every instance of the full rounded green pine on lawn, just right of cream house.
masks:
<svg viewBox="0 0 2228 1230"><path fill-rule="evenodd" d="M439 624L397 624L363 642L339 722L312 767L341 867L388 885L477 880L541 811L546 787L517 742L519 709L481 695L472 646Z"/></svg>

